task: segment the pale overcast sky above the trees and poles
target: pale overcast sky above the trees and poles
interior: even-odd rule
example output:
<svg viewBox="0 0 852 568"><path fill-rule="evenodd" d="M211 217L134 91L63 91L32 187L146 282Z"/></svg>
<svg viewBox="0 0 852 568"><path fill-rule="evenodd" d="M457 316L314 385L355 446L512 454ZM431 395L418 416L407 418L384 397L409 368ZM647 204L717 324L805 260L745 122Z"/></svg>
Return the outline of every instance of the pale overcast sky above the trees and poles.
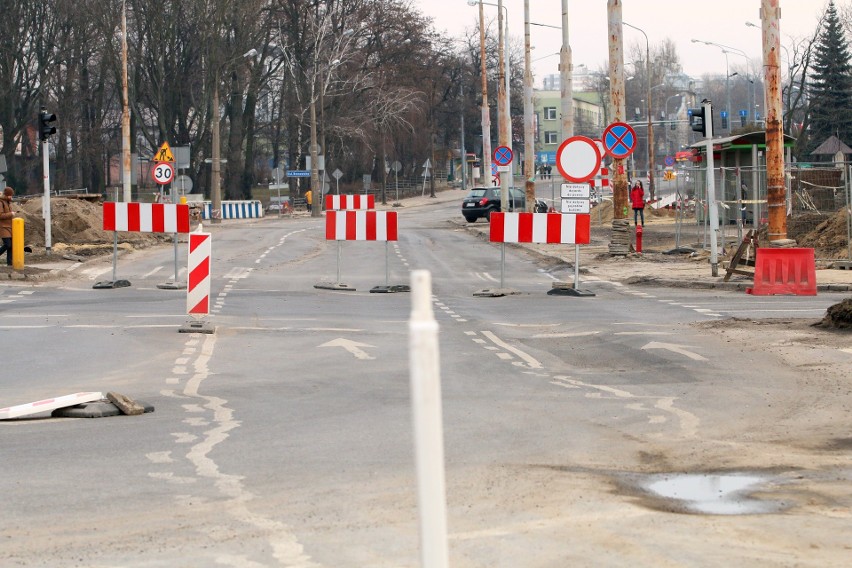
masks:
<svg viewBox="0 0 852 568"><path fill-rule="evenodd" d="M435 27L451 36L462 36L465 30L473 31L479 19L478 6L468 6L467 0L411 0L412 5L428 17L433 18ZM489 0L494 6L485 5L486 18L497 17L497 0ZM816 29L828 0L779 0L781 6L782 44L791 44L791 38L809 37ZM848 0L835 0L843 6ZM722 49L703 43L699 39L741 50L752 58L755 65L761 59L760 30L745 23L760 25L760 0L711 0L709 2L672 0L624 0L622 17L625 22L641 28L651 45L670 38L677 51L684 71L694 77L704 73L725 73L725 54ZM509 18L509 35L513 41L523 45L524 2L503 0ZM597 70L607 61L607 3L606 0L568 0L569 40L576 68L585 64ZM561 25L561 0L530 0L530 21L540 24ZM536 87L542 77L558 73L559 57L547 57L557 53L562 44L562 32L541 26L530 26L531 57L539 59L533 63ZM645 36L629 27L624 28L625 50L638 43L645 48ZM782 50L782 58L783 58ZM745 58L728 54L730 68L745 64ZM782 65L784 65L782 59Z"/></svg>

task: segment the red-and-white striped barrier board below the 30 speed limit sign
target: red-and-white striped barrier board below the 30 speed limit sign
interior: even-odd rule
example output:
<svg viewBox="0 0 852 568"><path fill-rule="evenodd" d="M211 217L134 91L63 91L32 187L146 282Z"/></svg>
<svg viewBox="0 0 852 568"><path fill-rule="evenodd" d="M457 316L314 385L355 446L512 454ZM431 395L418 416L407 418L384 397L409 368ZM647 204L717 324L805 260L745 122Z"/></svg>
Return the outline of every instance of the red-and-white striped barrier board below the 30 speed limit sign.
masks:
<svg viewBox="0 0 852 568"><path fill-rule="evenodd" d="M104 231L132 233L188 233L189 205L107 201Z"/></svg>

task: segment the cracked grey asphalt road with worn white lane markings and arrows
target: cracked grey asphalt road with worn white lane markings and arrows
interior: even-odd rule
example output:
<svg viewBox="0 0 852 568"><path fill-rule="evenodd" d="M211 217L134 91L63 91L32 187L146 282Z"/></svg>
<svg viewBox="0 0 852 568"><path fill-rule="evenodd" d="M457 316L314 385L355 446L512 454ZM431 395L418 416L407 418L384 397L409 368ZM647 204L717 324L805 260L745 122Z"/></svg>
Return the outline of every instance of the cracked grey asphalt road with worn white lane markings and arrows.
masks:
<svg viewBox="0 0 852 568"><path fill-rule="evenodd" d="M0 421L0 563L418 566L411 297L370 293L414 269L432 273L440 329L451 565L848 560L848 384L702 327L817 317L841 295L551 296L570 268L514 248L503 268L448 222L457 204L399 215L387 245L338 246L307 217L212 227L213 334L178 333L168 247L119 260L128 288L92 288L105 261L0 284L0 406L117 391L156 408ZM519 293L475 295L501 272ZM753 476L733 499L750 514L645 489L680 473Z"/></svg>

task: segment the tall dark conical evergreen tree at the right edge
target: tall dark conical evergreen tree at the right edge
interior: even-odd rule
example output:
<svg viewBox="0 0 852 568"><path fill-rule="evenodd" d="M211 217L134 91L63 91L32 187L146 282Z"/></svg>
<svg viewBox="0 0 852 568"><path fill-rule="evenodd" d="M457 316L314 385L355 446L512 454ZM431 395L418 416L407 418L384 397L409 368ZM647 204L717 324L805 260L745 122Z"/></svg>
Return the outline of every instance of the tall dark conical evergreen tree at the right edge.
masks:
<svg viewBox="0 0 852 568"><path fill-rule="evenodd" d="M828 3L815 46L809 91L809 149L832 135L852 144L852 65L834 0Z"/></svg>

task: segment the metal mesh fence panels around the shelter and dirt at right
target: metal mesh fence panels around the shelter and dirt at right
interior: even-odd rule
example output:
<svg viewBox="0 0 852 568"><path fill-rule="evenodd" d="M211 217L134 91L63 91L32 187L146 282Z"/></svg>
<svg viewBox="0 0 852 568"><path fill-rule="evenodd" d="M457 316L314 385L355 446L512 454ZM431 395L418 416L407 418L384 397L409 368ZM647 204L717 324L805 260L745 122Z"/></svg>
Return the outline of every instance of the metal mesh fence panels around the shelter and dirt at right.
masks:
<svg viewBox="0 0 852 568"><path fill-rule="evenodd" d="M822 260L852 260L852 164L793 164L784 173L787 237L818 249ZM663 180L663 174L655 179ZM722 243L739 243L744 231L765 227L766 168L716 168L714 174ZM679 169L673 181L658 183L656 190L662 203L682 212L679 230L688 234L694 221L697 241L708 246L706 170Z"/></svg>

